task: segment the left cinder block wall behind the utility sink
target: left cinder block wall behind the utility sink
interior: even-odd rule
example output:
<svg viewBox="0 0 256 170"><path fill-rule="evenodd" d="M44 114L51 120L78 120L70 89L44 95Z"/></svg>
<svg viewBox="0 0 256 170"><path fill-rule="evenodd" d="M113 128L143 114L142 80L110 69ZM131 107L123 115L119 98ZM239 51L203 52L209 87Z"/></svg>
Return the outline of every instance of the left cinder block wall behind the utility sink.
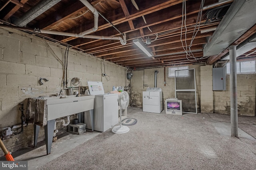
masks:
<svg viewBox="0 0 256 170"><path fill-rule="evenodd" d="M0 29L0 131L20 123L20 102L24 103L26 115L28 98L60 93L65 51L66 47L62 45L22 31ZM102 73L108 75L107 79ZM82 86L87 86L88 80L102 81L105 92L112 91L112 86L126 85L126 68L108 61L103 63L101 59L71 48L67 76L68 86L74 77L82 78ZM41 85L40 78L49 81L43 80ZM15 135L16 142L14 138L6 139L6 147L13 150L15 146L31 145L32 127L29 125L24 128L26 132ZM44 133L40 133L38 142L42 140Z"/></svg>

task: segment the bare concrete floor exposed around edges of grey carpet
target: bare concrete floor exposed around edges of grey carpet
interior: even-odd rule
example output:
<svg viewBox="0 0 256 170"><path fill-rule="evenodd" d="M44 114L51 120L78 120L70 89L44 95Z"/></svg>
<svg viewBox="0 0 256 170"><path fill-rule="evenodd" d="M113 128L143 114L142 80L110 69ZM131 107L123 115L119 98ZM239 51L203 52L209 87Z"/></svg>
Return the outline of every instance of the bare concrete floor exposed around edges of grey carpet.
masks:
<svg viewBox="0 0 256 170"><path fill-rule="evenodd" d="M129 107L128 117L129 117L129 112L131 113L136 111L142 111L142 108ZM161 114L165 114L165 111L163 110ZM209 115L207 115L206 113L199 113L197 115L189 114L189 116L200 117L203 119L204 118L210 119ZM221 116L225 117L225 119L228 119L229 117L229 115L221 115ZM215 127L216 131L218 131L219 135L230 137L230 123L222 122L222 121L212 121L212 125ZM248 139L253 143L256 143L256 139L254 139L254 137L248 135L246 132L242 131L241 129L238 129L238 133L240 138ZM14 157L14 159L27 160L28 169L35 170L36 168L43 166L44 164L50 162L51 160L54 160L55 158L58 158L59 156L74 149L75 147L78 147L80 144L85 143L86 141L92 139L93 137L96 137L99 134L100 132L97 132L97 131L86 132L86 133L82 133L81 135L66 133L65 136L59 138L56 142L52 143L51 154L49 155L46 154L46 146L42 145L28 152L25 151L24 154L21 154L20 156L16 156Z"/></svg>

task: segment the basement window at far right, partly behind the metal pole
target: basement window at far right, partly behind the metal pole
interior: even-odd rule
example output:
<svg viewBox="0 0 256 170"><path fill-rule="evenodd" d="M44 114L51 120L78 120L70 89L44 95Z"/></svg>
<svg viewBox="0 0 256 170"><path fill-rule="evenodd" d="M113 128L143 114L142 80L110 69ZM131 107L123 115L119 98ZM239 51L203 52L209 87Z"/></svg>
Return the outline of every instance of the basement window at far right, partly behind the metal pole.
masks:
<svg viewBox="0 0 256 170"><path fill-rule="evenodd" d="M227 66L227 74L230 74L230 63L227 63L226 66ZM256 73L255 60L236 62L236 73L237 74Z"/></svg>

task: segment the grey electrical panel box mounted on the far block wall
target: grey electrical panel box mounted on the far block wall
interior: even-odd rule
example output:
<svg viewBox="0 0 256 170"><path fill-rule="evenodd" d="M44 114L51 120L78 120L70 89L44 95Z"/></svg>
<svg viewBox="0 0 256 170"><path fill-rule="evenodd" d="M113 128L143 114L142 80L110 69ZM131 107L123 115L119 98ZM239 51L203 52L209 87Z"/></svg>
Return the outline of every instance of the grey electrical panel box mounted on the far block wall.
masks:
<svg viewBox="0 0 256 170"><path fill-rule="evenodd" d="M226 90L226 66L212 68L212 90Z"/></svg>

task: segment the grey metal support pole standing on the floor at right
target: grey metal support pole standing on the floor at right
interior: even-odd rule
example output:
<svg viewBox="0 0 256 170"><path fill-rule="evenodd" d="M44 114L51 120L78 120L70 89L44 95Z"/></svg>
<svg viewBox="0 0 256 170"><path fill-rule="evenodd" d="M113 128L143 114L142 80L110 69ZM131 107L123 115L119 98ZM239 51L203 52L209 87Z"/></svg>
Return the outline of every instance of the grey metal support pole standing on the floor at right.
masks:
<svg viewBox="0 0 256 170"><path fill-rule="evenodd" d="M238 138L237 92L236 92L236 46L229 47L230 56L230 122L231 136Z"/></svg>

